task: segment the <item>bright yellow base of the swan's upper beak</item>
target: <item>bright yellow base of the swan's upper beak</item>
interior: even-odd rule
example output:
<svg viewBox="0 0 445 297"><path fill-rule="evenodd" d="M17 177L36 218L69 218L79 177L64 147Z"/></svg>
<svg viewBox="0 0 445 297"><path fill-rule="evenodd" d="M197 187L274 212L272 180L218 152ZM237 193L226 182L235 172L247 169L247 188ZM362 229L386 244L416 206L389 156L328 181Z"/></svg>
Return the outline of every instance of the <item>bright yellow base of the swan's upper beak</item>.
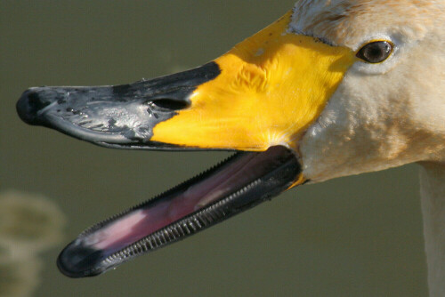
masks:
<svg viewBox="0 0 445 297"><path fill-rule="evenodd" d="M296 140L320 116L356 60L344 47L287 33L291 12L214 60L221 74L151 140L195 148L263 151Z"/></svg>

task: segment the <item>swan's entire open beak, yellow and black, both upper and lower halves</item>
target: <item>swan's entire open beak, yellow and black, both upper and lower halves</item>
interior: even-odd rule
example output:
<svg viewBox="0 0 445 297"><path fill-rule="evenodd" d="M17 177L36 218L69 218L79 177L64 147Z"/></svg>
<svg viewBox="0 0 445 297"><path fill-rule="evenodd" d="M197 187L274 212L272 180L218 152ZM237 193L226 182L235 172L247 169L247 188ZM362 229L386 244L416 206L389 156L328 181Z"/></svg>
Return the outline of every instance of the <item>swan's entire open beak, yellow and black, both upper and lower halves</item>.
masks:
<svg viewBox="0 0 445 297"><path fill-rule="evenodd" d="M240 150L220 165L86 229L58 259L89 277L206 229L305 181L298 140L354 54L290 32L292 12L230 52L171 76L97 87L35 87L22 120L109 148Z"/></svg>

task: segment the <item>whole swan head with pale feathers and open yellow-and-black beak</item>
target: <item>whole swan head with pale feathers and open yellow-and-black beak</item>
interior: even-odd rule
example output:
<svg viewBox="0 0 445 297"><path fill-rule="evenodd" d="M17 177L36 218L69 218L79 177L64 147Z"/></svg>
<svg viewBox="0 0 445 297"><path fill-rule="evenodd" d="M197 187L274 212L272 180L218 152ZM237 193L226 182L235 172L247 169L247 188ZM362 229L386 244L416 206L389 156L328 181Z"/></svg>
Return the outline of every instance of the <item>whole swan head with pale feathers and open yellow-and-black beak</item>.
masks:
<svg viewBox="0 0 445 297"><path fill-rule="evenodd" d="M444 161L443 6L298 1L200 68L24 92L25 122L104 147L243 151L87 229L61 271L100 274L304 181Z"/></svg>

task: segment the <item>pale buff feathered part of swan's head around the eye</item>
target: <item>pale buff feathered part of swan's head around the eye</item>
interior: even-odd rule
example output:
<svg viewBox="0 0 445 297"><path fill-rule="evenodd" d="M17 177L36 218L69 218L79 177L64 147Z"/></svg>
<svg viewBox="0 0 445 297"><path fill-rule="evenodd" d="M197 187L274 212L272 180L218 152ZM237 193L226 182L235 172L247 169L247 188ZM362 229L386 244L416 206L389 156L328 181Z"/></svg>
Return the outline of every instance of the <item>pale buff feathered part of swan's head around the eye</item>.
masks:
<svg viewBox="0 0 445 297"><path fill-rule="evenodd" d="M300 1L290 27L360 52L391 44L386 59L356 60L299 141L312 181L418 161L445 160L442 1ZM360 53L358 54L360 56Z"/></svg>

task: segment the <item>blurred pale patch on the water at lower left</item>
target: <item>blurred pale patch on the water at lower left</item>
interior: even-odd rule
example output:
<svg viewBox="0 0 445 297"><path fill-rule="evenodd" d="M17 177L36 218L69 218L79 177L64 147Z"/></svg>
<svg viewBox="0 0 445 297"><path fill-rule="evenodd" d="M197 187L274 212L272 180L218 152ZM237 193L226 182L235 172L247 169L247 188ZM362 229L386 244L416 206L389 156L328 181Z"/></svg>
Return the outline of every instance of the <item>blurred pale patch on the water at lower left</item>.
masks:
<svg viewBox="0 0 445 297"><path fill-rule="evenodd" d="M31 296L44 269L40 254L61 241L65 216L52 201L0 192L0 296Z"/></svg>

